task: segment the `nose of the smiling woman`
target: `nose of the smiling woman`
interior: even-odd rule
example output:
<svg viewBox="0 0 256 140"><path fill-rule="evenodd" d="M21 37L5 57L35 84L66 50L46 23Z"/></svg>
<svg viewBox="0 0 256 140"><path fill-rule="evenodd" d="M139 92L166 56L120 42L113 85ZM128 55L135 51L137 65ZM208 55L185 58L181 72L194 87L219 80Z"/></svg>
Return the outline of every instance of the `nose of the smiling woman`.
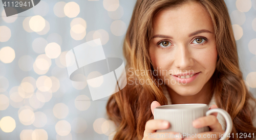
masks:
<svg viewBox="0 0 256 140"><path fill-rule="evenodd" d="M189 69L194 65L191 52L186 45L180 45L175 51L175 66L179 69Z"/></svg>

